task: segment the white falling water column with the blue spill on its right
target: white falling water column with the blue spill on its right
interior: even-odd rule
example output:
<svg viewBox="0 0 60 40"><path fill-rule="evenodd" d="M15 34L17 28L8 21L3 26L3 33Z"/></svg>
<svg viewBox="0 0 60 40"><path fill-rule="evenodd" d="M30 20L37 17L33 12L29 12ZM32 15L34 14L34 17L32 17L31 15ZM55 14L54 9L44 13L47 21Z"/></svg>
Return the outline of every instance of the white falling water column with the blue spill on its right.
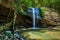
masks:
<svg viewBox="0 0 60 40"><path fill-rule="evenodd" d="M33 13L33 27L32 29L37 29L37 25L36 22L38 21L38 14L39 14L39 10L37 8L32 8L32 13Z"/></svg>

